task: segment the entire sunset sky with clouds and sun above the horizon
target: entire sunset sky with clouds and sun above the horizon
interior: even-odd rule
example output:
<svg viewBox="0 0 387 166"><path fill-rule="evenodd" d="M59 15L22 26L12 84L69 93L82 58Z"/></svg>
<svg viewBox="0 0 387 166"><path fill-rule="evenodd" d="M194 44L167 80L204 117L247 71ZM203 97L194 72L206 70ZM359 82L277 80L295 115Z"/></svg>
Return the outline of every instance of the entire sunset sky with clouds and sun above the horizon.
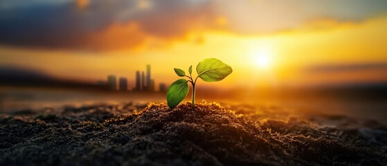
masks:
<svg viewBox="0 0 387 166"><path fill-rule="evenodd" d="M386 29L384 0L0 0L0 66L133 87L215 57L233 73L204 86L386 82Z"/></svg>

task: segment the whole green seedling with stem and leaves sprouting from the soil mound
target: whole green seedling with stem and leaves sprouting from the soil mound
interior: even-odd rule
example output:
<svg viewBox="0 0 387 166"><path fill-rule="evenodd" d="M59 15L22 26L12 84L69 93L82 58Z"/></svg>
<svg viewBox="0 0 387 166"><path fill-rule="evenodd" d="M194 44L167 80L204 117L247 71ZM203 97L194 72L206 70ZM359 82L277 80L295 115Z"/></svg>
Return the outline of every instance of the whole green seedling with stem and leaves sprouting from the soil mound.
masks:
<svg viewBox="0 0 387 166"><path fill-rule="evenodd" d="M205 82L218 82L227 77L227 75L230 75L233 72L233 69L219 59L208 58L197 64L196 72L197 77L194 80L192 78L192 65L188 68L188 73L190 73L190 75L186 75L186 72L180 68L174 68L174 73L179 75L179 77L188 77L189 80L179 79L173 82L168 88L167 102L170 109L176 107L184 100L184 98L186 98L188 94L188 82L192 84L192 109L194 109L197 78L201 78L201 80L204 80Z"/></svg>

